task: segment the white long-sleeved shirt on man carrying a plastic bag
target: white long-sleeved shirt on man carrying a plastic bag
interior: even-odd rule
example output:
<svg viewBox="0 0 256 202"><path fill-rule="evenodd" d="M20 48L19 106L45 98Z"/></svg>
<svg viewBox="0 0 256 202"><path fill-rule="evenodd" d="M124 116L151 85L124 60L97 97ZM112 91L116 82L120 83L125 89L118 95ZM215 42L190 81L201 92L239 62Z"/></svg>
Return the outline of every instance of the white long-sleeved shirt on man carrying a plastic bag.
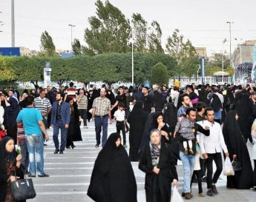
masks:
<svg viewBox="0 0 256 202"><path fill-rule="evenodd" d="M226 148L226 144L223 138L222 129L220 127L220 124L217 122L214 122L214 124L211 124L209 121L199 121L197 122L200 124L201 127L209 127L210 128L210 135L200 135L200 150L202 154L208 153L208 154L214 154L219 153L223 149L224 152L228 152L228 149Z"/></svg>

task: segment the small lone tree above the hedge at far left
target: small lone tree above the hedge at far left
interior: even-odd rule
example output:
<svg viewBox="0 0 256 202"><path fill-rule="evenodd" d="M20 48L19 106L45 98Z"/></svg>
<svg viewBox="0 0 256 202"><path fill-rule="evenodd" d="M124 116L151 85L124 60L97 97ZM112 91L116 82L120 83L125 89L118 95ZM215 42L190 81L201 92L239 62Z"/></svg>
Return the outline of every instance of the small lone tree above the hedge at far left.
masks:
<svg viewBox="0 0 256 202"><path fill-rule="evenodd" d="M42 55L50 57L56 56L56 49L55 45L53 44L53 38L51 38L47 31L42 33L40 41Z"/></svg>

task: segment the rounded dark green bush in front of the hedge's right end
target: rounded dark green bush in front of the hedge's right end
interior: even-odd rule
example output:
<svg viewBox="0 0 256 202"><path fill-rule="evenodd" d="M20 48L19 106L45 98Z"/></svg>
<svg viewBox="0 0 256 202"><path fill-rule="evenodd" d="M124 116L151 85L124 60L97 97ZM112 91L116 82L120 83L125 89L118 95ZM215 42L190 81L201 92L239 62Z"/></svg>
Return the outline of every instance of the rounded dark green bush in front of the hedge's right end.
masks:
<svg viewBox="0 0 256 202"><path fill-rule="evenodd" d="M157 63L151 70L151 84L158 84L162 86L166 84L168 86L168 71L167 67L162 63Z"/></svg>

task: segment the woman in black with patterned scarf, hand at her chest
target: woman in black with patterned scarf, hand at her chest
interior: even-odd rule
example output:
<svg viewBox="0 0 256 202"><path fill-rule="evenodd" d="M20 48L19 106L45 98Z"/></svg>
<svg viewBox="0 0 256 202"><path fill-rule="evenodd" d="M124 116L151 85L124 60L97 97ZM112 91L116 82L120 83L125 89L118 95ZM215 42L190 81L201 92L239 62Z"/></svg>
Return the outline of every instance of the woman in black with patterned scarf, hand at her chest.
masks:
<svg viewBox="0 0 256 202"><path fill-rule="evenodd" d="M169 144L161 141L160 130L153 129L151 141L140 156L139 168L145 172L147 202L171 201L171 182L177 186L177 170Z"/></svg>

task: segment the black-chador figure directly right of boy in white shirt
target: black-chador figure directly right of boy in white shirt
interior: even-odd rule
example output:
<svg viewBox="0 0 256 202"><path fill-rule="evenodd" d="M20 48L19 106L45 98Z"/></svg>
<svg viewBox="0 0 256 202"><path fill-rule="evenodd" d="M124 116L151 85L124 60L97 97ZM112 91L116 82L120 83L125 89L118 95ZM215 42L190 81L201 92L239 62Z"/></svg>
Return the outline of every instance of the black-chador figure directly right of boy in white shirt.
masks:
<svg viewBox="0 0 256 202"><path fill-rule="evenodd" d="M139 149L142 141L142 136L145 128L145 122L147 121L148 115L143 110L142 101L137 101L134 105L134 109L128 117L128 123L130 124L130 151L129 157L131 161L139 161Z"/></svg>

